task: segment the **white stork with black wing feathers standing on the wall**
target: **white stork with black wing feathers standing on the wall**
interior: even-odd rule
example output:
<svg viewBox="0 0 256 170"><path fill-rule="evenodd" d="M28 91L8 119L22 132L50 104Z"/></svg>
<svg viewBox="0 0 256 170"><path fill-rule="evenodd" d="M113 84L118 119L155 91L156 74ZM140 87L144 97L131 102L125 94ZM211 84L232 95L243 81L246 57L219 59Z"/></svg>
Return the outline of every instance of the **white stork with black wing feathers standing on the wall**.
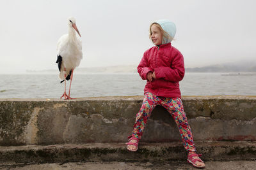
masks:
<svg viewBox="0 0 256 170"><path fill-rule="evenodd" d="M73 79L74 69L79 66L81 59L83 59L81 34L76 26L76 19L68 17L68 34L60 37L57 43L57 60L58 69L60 71L60 83L65 81L65 90L63 95L64 99L76 99L70 97L70 88ZM77 38L77 34L80 38ZM66 92L66 80L70 80L68 95Z"/></svg>

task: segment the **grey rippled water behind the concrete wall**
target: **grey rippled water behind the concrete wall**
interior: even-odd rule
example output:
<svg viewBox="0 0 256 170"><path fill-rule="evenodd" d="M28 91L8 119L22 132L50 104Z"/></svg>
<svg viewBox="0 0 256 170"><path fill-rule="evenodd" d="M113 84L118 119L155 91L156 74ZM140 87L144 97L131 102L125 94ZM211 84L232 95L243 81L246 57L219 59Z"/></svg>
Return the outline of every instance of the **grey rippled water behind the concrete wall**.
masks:
<svg viewBox="0 0 256 170"><path fill-rule="evenodd" d="M256 75L221 74L186 73L180 81L182 96L256 96ZM0 98L58 98L64 90L57 74L0 74L0 81ZM136 73L74 74L70 96L143 96L144 86L145 81Z"/></svg>

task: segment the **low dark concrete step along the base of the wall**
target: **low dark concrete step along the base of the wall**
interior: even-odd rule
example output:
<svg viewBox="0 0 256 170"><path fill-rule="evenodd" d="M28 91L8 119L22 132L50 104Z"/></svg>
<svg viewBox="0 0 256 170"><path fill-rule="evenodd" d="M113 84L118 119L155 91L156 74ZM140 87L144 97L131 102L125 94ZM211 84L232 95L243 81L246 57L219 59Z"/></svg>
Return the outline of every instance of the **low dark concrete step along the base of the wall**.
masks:
<svg viewBox="0 0 256 170"><path fill-rule="evenodd" d="M199 142L198 153L204 160L256 160L256 142ZM140 143L129 152L124 143L83 145L1 146L0 163L45 163L77 161L186 160L181 143Z"/></svg>

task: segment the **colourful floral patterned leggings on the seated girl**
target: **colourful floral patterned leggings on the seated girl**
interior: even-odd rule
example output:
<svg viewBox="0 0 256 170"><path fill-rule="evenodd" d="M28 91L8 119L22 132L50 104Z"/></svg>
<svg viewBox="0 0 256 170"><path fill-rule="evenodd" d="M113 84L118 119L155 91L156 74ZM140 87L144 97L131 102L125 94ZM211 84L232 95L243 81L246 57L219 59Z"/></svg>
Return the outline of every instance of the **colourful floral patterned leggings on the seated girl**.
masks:
<svg viewBox="0 0 256 170"><path fill-rule="evenodd" d="M182 101L179 97L158 97L150 92L146 93L140 111L136 115L132 136L138 139L141 138L145 125L147 124L147 120L150 117L152 110L157 105L163 106L172 115L179 128L185 149L189 152L195 152L196 149L194 146L195 144L192 132L188 124L186 113L183 109Z"/></svg>

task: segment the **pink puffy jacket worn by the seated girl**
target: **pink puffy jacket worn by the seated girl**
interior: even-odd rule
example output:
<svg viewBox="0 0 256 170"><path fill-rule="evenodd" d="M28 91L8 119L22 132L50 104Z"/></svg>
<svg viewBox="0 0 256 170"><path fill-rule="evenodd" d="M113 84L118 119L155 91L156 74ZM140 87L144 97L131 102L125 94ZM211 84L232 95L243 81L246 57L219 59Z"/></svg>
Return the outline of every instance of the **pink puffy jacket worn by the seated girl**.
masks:
<svg viewBox="0 0 256 170"><path fill-rule="evenodd" d="M144 94L152 92L156 96L180 98L179 81L185 74L184 59L171 43L148 49L137 69L143 80L147 80L149 71L156 74L156 79L147 81Z"/></svg>

